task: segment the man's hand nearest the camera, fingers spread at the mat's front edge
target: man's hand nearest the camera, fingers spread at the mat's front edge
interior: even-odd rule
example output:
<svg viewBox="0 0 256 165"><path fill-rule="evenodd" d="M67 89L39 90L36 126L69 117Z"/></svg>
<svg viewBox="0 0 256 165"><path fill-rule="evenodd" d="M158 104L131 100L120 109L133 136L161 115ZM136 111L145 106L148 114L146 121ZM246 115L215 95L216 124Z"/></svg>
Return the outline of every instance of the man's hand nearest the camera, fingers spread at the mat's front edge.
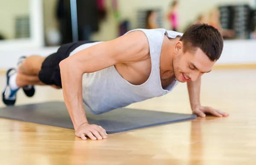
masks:
<svg viewBox="0 0 256 165"><path fill-rule="evenodd" d="M108 134L99 125L84 123L76 128L76 136L81 137L83 140L87 139L85 136L88 136L92 140L102 140L102 138L107 139Z"/></svg>

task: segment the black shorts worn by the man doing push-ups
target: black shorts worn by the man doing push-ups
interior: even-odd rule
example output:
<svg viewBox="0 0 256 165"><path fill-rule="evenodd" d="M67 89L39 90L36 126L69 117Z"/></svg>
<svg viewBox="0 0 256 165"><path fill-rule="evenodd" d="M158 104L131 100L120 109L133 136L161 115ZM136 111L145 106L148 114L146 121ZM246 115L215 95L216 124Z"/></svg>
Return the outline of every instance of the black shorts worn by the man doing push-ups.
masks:
<svg viewBox="0 0 256 165"><path fill-rule="evenodd" d="M93 42L96 41L78 41L62 45L57 52L45 58L38 75L40 81L47 85L56 85L57 87L62 88L59 63L65 58L69 57L70 52L72 52L77 47L85 43Z"/></svg>

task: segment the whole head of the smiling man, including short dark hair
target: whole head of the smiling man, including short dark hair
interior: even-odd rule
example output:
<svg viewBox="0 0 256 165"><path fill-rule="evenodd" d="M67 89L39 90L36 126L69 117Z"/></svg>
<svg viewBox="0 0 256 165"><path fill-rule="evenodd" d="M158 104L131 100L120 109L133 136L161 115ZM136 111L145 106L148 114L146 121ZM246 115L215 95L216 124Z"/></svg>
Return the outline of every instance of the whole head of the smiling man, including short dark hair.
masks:
<svg viewBox="0 0 256 165"><path fill-rule="evenodd" d="M221 56L223 45L221 33L213 26L206 23L190 26L172 47L175 78L180 82L196 81L211 71Z"/></svg>

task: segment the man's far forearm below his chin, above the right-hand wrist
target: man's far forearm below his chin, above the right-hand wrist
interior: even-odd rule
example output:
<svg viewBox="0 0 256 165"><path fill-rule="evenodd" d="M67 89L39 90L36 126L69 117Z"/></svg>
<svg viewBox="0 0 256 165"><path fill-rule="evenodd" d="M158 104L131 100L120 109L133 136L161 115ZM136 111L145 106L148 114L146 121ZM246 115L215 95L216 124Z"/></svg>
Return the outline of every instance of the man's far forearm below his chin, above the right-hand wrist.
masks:
<svg viewBox="0 0 256 165"><path fill-rule="evenodd" d="M199 77L195 82L188 81L187 88L189 92L189 101L191 108L195 105L200 105L200 87L201 87L201 77Z"/></svg>

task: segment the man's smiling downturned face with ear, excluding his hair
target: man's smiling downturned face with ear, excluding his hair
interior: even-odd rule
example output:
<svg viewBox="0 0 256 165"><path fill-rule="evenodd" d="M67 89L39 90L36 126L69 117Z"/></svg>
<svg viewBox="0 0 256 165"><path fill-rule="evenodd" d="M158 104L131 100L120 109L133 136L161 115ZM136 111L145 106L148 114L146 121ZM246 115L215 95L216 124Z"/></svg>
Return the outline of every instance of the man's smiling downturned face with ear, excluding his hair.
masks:
<svg viewBox="0 0 256 165"><path fill-rule="evenodd" d="M179 41L180 42L180 41ZM196 81L201 75L212 70L215 61L211 61L200 49L183 52L182 43L175 47L173 70L177 81Z"/></svg>

